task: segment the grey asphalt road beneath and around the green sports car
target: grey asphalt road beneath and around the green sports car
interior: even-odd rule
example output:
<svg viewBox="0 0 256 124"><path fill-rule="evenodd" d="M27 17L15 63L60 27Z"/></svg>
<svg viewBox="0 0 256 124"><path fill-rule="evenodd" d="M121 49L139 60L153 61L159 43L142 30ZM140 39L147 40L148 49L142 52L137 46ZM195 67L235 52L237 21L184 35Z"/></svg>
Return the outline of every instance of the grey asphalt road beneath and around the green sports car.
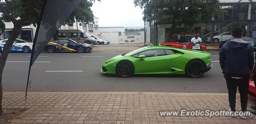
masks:
<svg viewBox="0 0 256 124"><path fill-rule="evenodd" d="M118 54L42 53L32 67L29 91L227 92L220 73L218 51L212 51L212 70L198 79L175 75L135 75L130 78L102 75L100 65ZM29 60L30 53L9 54L3 74L4 91L25 91Z"/></svg>

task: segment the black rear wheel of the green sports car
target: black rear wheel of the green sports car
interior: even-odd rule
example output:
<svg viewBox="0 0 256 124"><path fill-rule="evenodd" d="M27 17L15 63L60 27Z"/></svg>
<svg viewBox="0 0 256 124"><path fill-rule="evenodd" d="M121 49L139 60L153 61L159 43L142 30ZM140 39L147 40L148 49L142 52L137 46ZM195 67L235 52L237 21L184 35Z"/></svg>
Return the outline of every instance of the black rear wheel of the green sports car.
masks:
<svg viewBox="0 0 256 124"><path fill-rule="evenodd" d="M205 65L202 61L193 60L186 66L186 75L192 78L202 77L205 71Z"/></svg>

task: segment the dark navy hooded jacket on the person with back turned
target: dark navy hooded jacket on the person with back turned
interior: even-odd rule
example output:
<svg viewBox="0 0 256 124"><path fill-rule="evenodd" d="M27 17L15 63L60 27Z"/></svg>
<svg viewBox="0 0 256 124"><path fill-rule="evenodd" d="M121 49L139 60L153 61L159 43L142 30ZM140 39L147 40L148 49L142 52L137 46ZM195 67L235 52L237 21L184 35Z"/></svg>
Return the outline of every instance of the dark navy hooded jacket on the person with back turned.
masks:
<svg viewBox="0 0 256 124"><path fill-rule="evenodd" d="M250 74L254 66L254 53L251 45L242 41L228 40L220 49L220 67L224 72L236 77Z"/></svg>

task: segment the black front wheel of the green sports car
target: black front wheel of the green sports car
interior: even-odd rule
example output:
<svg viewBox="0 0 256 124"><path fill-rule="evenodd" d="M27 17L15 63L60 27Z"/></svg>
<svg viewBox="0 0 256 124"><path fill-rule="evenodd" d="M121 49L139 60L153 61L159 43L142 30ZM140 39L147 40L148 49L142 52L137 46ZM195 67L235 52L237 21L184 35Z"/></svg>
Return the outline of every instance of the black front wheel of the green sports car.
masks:
<svg viewBox="0 0 256 124"><path fill-rule="evenodd" d="M121 61L116 66L116 75L118 77L130 77L134 74L134 66L128 61Z"/></svg>

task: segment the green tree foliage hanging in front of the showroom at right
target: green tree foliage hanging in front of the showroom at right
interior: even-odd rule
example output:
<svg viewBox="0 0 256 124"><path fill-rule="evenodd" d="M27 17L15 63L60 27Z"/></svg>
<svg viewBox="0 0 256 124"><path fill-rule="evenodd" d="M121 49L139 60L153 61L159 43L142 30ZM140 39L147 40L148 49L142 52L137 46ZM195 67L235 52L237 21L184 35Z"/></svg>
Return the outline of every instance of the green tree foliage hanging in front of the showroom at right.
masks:
<svg viewBox="0 0 256 124"><path fill-rule="evenodd" d="M198 21L226 16L219 0L134 0L134 4L144 8L144 21L156 20L173 26L193 26Z"/></svg>

